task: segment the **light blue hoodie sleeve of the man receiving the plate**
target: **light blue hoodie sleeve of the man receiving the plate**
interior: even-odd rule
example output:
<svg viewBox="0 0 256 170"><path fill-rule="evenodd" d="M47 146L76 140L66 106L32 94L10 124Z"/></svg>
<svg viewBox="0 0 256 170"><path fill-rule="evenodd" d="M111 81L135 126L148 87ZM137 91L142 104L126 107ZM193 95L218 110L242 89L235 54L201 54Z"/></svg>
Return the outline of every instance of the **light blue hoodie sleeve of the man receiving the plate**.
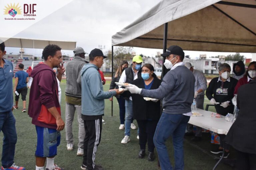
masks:
<svg viewBox="0 0 256 170"><path fill-rule="evenodd" d="M89 77L87 80L87 83L89 85L92 96L94 98L101 100L101 99L107 99L107 98L110 98L110 97L116 95L116 91L102 91L101 90L100 85L102 85L102 82L99 79L98 74L99 74L98 71L89 74Z"/></svg>

